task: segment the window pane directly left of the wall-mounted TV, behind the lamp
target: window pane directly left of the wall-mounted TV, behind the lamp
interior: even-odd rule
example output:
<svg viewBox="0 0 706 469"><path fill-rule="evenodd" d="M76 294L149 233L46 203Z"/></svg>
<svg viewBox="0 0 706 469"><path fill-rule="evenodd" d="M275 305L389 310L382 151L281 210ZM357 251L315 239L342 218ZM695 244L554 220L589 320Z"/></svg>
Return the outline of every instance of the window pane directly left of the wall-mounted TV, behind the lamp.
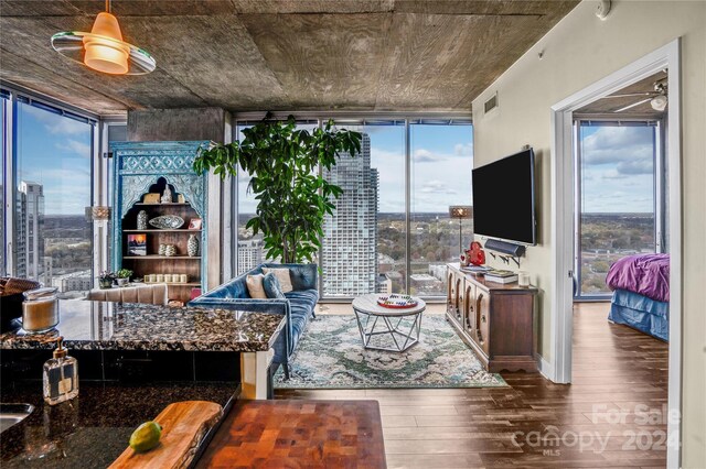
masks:
<svg viewBox="0 0 706 469"><path fill-rule="evenodd" d="M473 133L468 123L409 127L411 200L409 293L446 294L446 264L473 238L472 219L449 217L449 206L471 205ZM459 246L459 232L461 246Z"/></svg>

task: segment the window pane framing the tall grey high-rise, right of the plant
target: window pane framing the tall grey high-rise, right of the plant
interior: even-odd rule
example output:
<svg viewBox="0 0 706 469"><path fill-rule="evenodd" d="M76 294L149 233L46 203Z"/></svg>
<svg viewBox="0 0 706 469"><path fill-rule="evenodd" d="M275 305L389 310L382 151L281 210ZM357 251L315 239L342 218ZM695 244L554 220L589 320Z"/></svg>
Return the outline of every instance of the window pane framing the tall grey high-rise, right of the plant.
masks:
<svg viewBox="0 0 706 469"><path fill-rule="evenodd" d="M339 120L363 134L361 154L341 155L324 177L343 188L324 222L322 295L407 291L404 120Z"/></svg>

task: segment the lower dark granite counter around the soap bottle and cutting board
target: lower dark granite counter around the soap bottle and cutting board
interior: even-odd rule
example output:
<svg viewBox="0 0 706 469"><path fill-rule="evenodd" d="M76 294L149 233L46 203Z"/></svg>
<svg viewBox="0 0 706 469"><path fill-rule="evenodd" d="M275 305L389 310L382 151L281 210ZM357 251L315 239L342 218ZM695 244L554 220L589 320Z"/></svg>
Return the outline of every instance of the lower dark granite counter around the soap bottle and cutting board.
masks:
<svg viewBox="0 0 706 469"><path fill-rule="evenodd" d="M167 405L212 401L227 413L236 390L233 383L213 382L135 386L82 382L77 397L50 406L42 400L41 382L15 383L1 390L2 402L35 408L0 434L0 467L106 468L127 448L135 428Z"/></svg>

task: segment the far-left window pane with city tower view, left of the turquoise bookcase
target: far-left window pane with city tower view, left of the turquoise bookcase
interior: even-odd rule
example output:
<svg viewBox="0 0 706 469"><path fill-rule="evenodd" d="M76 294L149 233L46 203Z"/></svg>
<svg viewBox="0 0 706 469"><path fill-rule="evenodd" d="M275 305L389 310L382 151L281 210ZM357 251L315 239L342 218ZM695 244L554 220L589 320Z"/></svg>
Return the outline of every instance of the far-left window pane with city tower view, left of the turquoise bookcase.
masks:
<svg viewBox="0 0 706 469"><path fill-rule="evenodd" d="M13 105L13 274L79 295L94 276L94 123L29 98Z"/></svg>

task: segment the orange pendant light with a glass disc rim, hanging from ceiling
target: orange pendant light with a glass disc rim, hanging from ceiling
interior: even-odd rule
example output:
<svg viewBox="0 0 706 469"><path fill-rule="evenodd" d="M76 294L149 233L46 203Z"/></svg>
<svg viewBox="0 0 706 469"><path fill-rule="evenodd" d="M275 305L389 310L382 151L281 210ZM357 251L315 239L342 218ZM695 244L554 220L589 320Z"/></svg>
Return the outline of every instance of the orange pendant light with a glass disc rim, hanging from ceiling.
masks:
<svg viewBox="0 0 706 469"><path fill-rule="evenodd" d="M89 33L67 31L52 36L54 51L109 75L145 75L154 70L157 62L147 52L122 41L118 19L106 11L98 13Z"/></svg>

